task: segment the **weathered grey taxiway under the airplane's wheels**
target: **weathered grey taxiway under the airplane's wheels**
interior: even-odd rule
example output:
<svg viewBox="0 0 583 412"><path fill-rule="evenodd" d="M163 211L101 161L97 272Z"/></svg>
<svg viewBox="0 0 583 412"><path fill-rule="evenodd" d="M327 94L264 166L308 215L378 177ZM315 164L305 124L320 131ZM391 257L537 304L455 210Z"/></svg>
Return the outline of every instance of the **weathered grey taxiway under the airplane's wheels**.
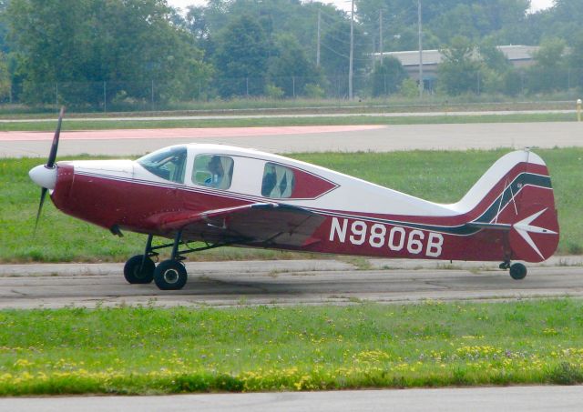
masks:
<svg viewBox="0 0 583 412"><path fill-rule="evenodd" d="M179 291L128 285L123 264L0 266L0 308L319 305L583 296L583 259L555 257L513 280L497 263L371 259L189 262Z"/></svg>

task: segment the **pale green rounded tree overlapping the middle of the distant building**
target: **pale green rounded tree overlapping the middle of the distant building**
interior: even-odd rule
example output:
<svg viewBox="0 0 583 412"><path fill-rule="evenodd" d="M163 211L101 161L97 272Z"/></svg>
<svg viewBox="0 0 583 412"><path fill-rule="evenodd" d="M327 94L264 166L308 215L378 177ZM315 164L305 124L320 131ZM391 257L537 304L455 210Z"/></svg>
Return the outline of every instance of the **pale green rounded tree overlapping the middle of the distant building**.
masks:
<svg viewBox="0 0 583 412"><path fill-rule="evenodd" d="M443 61L437 69L439 86L447 95L476 91L479 63L474 56L475 49L468 38L455 36L451 45L441 50Z"/></svg>

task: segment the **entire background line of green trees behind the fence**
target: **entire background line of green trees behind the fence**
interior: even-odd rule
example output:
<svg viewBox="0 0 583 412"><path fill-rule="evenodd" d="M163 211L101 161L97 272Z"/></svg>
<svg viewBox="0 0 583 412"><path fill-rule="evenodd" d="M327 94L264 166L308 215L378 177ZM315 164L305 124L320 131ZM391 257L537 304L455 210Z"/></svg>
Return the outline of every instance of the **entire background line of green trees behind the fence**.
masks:
<svg viewBox="0 0 583 412"><path fill-rule="evenodd" d="M416 0L355 0L359 95L414 95L394 58L416 50ZM440 49L437 93L583 87L580 0L528 14L528 0L422 1L424 49ZM318 38L320 41L318 42ZM517 69L496 45L540 45ZM300 0L0 0L0 99L36 105L233 96L345 96L350 15ZM567 81L566 81L567 79ZM60 88L59 88L60 85Z"/></svg>

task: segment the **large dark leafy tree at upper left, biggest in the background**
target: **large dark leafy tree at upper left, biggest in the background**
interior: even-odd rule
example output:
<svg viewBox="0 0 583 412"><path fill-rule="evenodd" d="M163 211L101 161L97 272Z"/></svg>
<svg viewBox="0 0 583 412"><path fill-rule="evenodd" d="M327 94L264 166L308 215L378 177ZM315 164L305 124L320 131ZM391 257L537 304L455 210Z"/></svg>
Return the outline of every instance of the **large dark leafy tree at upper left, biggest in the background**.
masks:
<svg viewBox="0 0 583 412"><path fill-rule="evenodd" d="M165 1L12 0L5 13L28 103L57 93L68 104L103 103L104 81L109 99L149 100L153 81L158 100L181 99L193 77L210 75Z"/></svg>

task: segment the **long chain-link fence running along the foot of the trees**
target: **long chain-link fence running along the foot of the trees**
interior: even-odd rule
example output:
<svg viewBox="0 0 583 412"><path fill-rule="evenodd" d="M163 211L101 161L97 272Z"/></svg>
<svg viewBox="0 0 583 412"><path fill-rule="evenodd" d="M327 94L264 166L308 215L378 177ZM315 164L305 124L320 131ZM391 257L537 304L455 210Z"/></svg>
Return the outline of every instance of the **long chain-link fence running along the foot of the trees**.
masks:
<svg viewBox="0 0 583 412"><path fill-rule="evenodd" d="M465 74L465 94L530 95L583 89L583 69L565 68L552 72L512 70L506 75L485 75L482 72ZM373 74L354 75L354 96L388 96L393 81L384 76L376 81ZM461 80L460 80L461 81ZM408 86L408 88L407 88ZM447 85L440 84L437 76L424 79L427 94L446 95ZM397 94L414 97L416 80L410 79L397 88ZM174 81L107 81L58 82L41 84L15 84L0 95L0 104L27 106L60 106L88 111L161 110L180 103L205 102L231 97L250 98L348 98L348 75L317 77L265 77L200 78L188 86Z"/></svg>

